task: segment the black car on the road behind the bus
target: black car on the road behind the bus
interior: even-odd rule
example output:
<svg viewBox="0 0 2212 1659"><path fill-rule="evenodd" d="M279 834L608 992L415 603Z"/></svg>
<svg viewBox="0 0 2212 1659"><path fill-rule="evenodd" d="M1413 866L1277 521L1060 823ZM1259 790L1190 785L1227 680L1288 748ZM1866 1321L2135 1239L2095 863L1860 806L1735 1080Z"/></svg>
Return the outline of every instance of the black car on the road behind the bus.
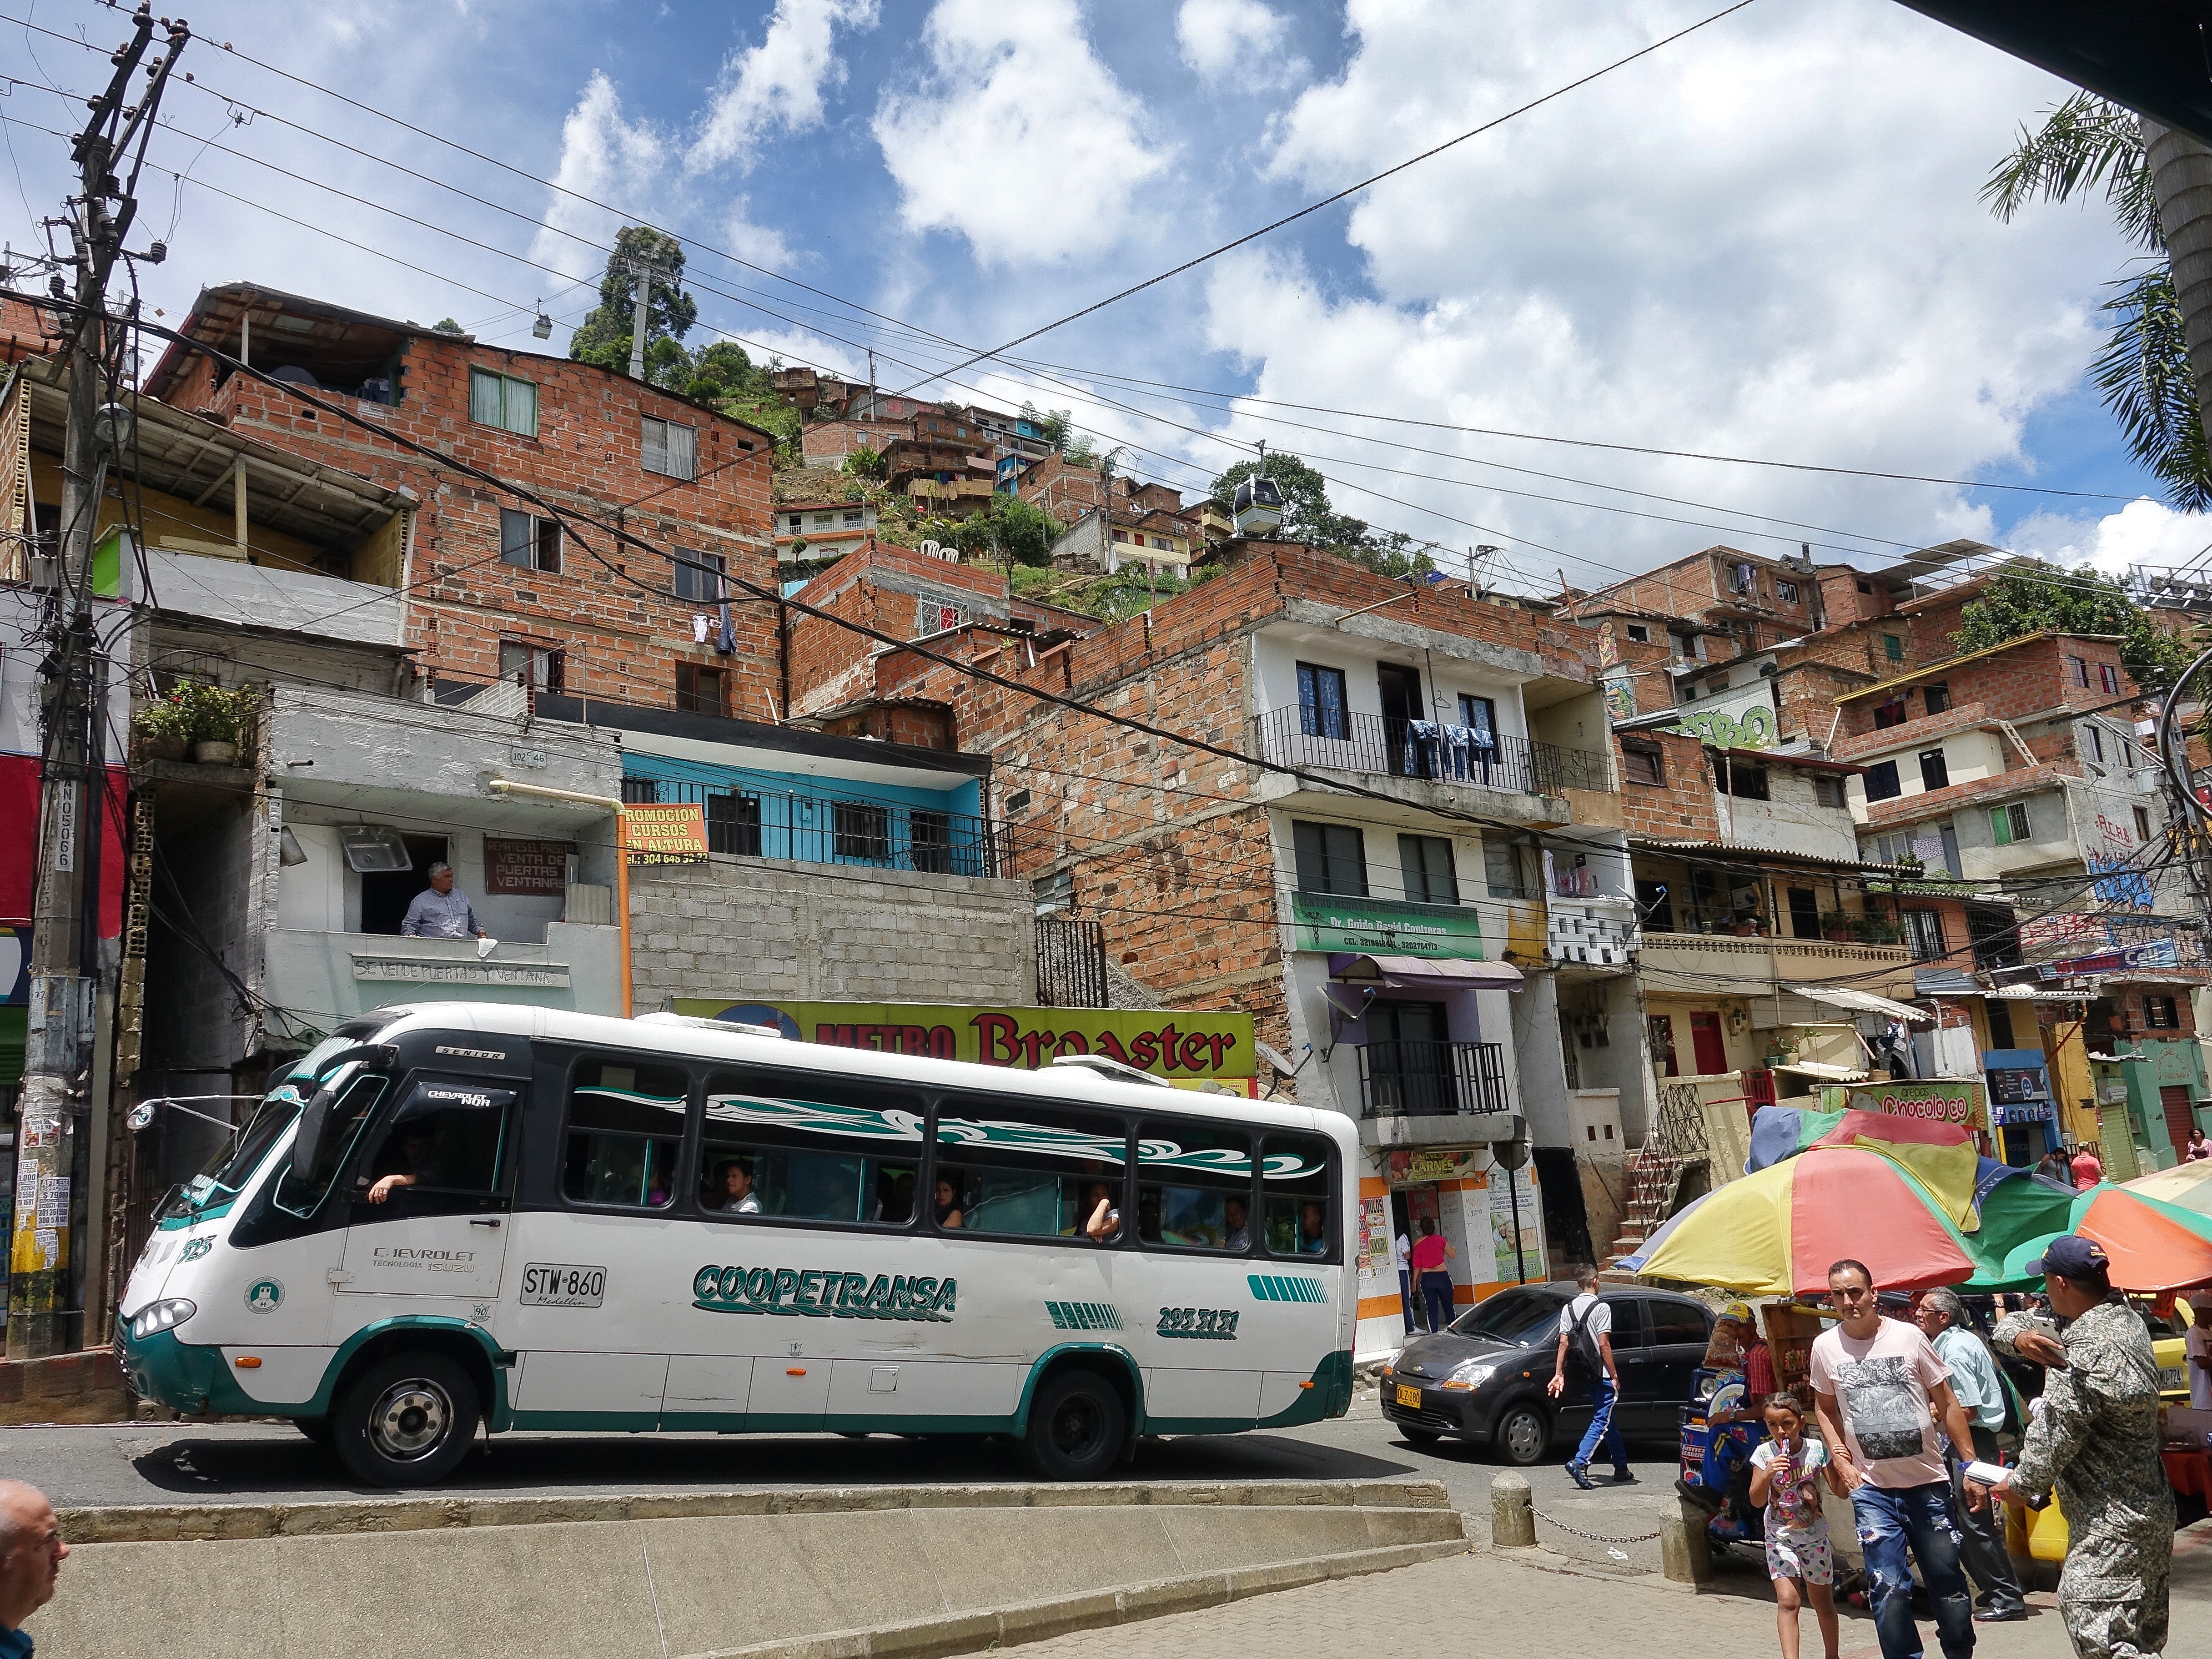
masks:
<svg viewBox="0 0 2212 1659"><path fill-rule="evenodd" d="M1559 1310L1573 1298L1573 1281L1515 1285L1442 1332L1409 1338L1383 1371L1383 1416L1407 1440L1455 1433L1517 1464L1542 1462L1555 1440L1573 1444L1590 1427L1588 1398L1573 1385L1557 1400L1544 1394L1559 1347ZM1630 1285L1608 1285L1599 1301L1613 1310L1621 1433L1672 1447L1690 1374L1712 1338L1712 1310L1694 1296Z"/></svg>

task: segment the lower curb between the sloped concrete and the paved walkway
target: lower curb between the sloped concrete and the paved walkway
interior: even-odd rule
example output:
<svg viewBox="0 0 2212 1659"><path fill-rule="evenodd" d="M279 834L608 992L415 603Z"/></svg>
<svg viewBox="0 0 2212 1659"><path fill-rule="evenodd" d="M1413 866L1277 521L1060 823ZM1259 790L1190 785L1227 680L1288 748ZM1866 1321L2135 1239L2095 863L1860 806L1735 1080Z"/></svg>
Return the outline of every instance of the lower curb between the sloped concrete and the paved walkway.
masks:
<svg viewBox="0 0 2212 1659"><path fill-rule="evenodd" d="M1243 1601L1267 1590L1294 1590L1323 1579L1352 1579L1367 1573L1389 1573L1398 1566L1440 1562L1467 1555L1464 1540L1433 1544L1389 1544L1385 1548L1345 1555L1314 1555L1301 1562L1239 1566L1225 1573L1152 1579L1126 1590L1086 1590L1048 1601L1020 1601L993 1613L949 1613L936 1619L887 1624L880 1630L832 1630L818 1637L761 1641L750 1648L714 1648L692 1659L938 1659L940 1655L1013 1648L1022 1641L1044 1641L1071 1630L1097 1630L1110 1624L1135 1624L1168 1613Z"/></svg>

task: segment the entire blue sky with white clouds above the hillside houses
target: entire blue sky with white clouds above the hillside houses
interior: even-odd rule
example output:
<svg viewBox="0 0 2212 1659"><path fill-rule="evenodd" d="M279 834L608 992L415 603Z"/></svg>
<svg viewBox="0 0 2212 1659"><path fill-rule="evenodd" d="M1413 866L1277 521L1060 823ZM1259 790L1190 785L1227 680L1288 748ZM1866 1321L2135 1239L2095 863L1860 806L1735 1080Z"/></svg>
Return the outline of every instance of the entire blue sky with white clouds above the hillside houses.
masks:
<svg viewBox="0 0 2212 1659"><path fill-rule="evenodd" d="M613 230L650 221L684 239L695 347L856 376L874 352L889 389L1071 409L1186 491L1265 440L1526 591L1714 542L1885 564L1973 538L2115 573L2212 542L2086 385L2132 257L2110 215L2006 226L1978 195L2070 88L1893 0L1754 0L1559 91L1723 4L354 0L272 31L199 0L139 281L170 323L259 281L557 352ZM42 128L126 15L0 15L22 250L71 190Z"/></svg>

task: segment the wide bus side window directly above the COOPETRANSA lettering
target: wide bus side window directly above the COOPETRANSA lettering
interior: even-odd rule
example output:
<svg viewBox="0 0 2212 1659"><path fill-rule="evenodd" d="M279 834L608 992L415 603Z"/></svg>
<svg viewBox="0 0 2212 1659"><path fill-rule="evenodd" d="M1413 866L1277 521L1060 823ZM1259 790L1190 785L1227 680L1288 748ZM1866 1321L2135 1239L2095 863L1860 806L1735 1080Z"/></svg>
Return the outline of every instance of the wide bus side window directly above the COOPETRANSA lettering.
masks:
<svg viewBox="0 0 2212 1659"><path fill-rule="evenodd" d="M807 1073L706 1082L699 1208L905 1228L922 1172L922 1099Z"/></svg>

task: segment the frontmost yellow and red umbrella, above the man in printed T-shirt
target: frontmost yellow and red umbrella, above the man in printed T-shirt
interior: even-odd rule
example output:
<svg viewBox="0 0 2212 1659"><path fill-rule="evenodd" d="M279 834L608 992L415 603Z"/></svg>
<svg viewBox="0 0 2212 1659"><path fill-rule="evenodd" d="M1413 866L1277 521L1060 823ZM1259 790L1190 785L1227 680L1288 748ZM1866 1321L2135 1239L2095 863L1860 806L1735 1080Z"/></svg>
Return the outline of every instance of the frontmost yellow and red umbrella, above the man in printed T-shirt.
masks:
<svg viewBox="0 0 2212 1659"><path fill-rule="evenodd" d="M1750 1296L1809 1296L1847 1256L1882 1290L1958 1285L1991 1265L1911 1172L1860 1146L1814 1146L1730 1181L1621 1265Z"/></svg>

